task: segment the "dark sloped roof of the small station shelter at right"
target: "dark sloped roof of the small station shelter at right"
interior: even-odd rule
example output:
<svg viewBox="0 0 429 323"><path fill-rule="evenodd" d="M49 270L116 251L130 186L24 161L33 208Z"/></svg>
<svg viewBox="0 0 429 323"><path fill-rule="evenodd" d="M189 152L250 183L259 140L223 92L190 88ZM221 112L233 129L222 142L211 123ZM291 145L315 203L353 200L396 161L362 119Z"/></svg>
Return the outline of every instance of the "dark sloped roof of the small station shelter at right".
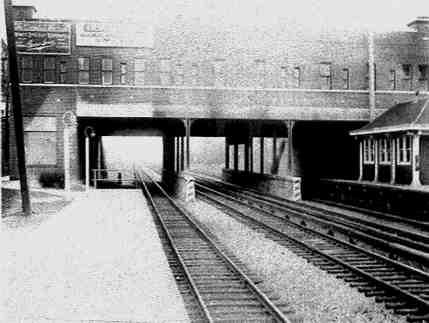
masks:
<svg viewBox="0 0 429 323"><path fill-rule="evenodd" d="M394 105L372 122L350 131L352 136L397 132L429 132L429 98Z"/></svg>

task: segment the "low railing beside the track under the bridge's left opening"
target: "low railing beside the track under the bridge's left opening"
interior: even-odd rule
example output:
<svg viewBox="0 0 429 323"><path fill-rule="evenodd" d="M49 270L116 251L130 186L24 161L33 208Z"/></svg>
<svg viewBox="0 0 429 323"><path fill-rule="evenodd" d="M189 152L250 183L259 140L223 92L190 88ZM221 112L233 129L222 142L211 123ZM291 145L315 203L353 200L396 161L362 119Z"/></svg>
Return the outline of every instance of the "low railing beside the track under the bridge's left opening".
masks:
<svg viewBox="0 0 429 323"><path fill-rule="evenodd" d="M92 183L94 188L106 187L135 187L137 188L137 178L131 170L121 169L92 169Z"/></svg>

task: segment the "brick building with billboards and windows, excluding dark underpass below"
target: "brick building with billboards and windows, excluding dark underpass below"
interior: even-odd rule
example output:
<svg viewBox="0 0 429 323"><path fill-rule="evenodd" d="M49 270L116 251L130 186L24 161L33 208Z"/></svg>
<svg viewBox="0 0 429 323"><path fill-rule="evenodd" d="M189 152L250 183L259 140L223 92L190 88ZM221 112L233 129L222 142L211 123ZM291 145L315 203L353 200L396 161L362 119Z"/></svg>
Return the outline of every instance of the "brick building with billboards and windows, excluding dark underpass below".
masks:
<svg viewBox="0 0 429 323"><path fill-rule="evenodd" d="M64 171L64 119L70 116L69 167L77 183L84 171L83 130L91 120L339 121L353 130L371 114L429 89L426 17L410 23L410 31L369 37L214 29L183 18L151 28L36 19L33 7L15 10L27 165L34 180L45 171ZM10 133L10 172L16 177Z"/></svg>

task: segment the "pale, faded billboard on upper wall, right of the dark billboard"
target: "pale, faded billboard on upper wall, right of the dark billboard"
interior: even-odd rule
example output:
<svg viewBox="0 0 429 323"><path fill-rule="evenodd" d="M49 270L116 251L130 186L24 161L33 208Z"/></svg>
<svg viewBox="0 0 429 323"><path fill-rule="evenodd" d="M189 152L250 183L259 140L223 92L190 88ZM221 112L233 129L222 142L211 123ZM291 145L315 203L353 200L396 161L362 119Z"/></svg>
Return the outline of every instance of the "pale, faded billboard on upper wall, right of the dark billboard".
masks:
<svg viewBox="0 0 429 323"><path fill-rule="evenodd" d="M76 25L77 46L153 47L153 32L148 26L132 23L85 22Z"/></svg>

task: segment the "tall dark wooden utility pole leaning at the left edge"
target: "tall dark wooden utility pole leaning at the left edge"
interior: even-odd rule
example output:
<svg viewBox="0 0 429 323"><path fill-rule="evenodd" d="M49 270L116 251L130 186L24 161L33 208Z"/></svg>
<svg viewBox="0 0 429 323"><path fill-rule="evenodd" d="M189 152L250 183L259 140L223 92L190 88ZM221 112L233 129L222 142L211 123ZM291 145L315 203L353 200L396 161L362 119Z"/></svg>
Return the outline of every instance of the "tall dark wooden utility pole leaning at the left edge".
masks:
<svg viewBox="0 0 429 323"><path fill-rule="evenodd" d="M15 44L15 26L11 0L4 0L4 13L9 54L9 77L12 93L13 119L15 123L16 151L18 157L19 181L21 184L22 210L24 215L31 215L30 192L28 190L27 169L25 167L24 127L22 124L21 96Z"/></svg>

